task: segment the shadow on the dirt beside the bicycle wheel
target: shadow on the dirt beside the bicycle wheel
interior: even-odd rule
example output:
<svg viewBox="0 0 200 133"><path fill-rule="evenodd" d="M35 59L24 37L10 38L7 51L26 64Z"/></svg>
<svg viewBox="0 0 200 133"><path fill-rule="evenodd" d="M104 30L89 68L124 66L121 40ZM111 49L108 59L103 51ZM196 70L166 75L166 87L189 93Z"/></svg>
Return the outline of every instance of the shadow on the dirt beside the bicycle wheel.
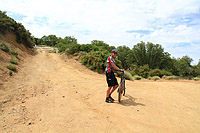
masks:
<svg viewBox="0 0 200 133"><path fill-rule="evenodd" d="M136 103L135 100L137 100L137 98L134 98L130 95L125 95L124 96L126 99L121 100L121 102L119 104L123 105L123 106L146 106L145 104L142 103Z"/></svg>

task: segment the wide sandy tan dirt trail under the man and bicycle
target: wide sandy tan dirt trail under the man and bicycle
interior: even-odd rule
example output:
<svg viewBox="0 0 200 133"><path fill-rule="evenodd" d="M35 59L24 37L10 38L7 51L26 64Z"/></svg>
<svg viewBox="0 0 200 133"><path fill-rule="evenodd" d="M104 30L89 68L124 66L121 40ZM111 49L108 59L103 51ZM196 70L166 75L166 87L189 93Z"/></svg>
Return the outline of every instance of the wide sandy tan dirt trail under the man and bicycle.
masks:
<svg viewBox="0 0 200 133"><path fill-rule="evenodd" d="M104 75L40 52L0 89L0 132L200 132L200 82L126 87L121 104L105 103Z"/></svg>

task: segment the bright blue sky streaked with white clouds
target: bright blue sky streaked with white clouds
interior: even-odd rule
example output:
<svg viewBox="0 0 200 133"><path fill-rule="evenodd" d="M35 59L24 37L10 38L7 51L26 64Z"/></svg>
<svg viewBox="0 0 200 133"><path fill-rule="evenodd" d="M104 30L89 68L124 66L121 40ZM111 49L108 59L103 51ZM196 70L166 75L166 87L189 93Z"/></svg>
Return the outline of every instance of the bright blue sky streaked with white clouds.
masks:
<svg viewBox="0 0 200 133"><path fill-rule="evenodd" d="M200 0L0 0L33 36L74 36L130 48L161 44L172 57L200 59Z"/></svg>

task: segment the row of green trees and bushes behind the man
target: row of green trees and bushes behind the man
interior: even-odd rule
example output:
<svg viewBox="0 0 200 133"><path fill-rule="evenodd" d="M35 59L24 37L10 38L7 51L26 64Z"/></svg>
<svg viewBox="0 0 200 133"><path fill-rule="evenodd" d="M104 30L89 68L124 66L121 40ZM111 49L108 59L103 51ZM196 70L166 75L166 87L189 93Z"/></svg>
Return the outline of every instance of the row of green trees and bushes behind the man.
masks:
<svg viewBox="0 0 200 133"><path fill-rule="evenodd" d="M151 42L141 41L131 49L127 46L110 46L99 40L93 40L90 44L78 44L77 39L72 36L61 38L49 35L34 40L35 44L58 47L59 52L78 56L83 65L99 73L104 72L111 50L117 49L116 64L120 68L130 70L132 75L143 78L175 75L189 79L200 76L200 61L197 65L191 65L193 59L189 56L171 57L162 45Z"/></svg>

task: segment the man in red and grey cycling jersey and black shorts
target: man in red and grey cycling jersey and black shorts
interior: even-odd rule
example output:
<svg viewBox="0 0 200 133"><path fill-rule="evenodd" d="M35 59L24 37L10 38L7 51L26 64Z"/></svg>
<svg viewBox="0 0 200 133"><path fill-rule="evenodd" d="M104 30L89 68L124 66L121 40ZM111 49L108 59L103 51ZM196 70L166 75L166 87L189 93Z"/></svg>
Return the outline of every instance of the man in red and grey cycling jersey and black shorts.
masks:
<svg viewBox="0 0 200 133"><path fill-rule="evenodd" d="M121 71L123 72L123 69L119 69L116 64L115 64L115 58L117 56L117 50L113 49L111 52L111 56L108 57L107 59L107 64L106 64L106 80L108 84L108 89L106 92L106 102L107 103L113 103L114 99L111 97L111 94L115 91L115 89L119 86L117 79L114 75L114 71ZM111 89L112 88L112 89Z"/></svg>

